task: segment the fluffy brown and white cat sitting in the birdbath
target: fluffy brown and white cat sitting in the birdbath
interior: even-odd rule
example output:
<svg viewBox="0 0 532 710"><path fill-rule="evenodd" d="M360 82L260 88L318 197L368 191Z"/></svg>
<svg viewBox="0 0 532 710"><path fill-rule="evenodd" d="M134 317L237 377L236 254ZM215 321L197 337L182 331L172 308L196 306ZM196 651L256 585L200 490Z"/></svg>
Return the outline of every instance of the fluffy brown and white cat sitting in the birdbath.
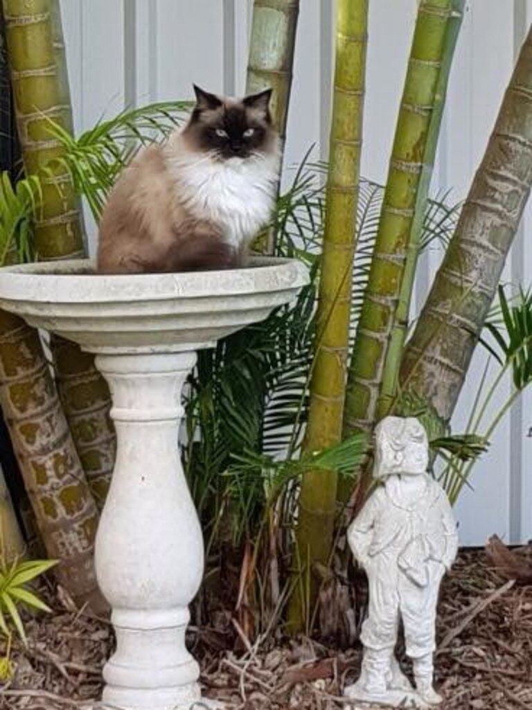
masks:
<svg viewBox="0 0 532 710"><path fill-rule="evenodd" d="M99 228L99 273L236 268L271 217L280 155L271 89L244 99L194 89L183 129L143 148L116 181Z"/></svg>

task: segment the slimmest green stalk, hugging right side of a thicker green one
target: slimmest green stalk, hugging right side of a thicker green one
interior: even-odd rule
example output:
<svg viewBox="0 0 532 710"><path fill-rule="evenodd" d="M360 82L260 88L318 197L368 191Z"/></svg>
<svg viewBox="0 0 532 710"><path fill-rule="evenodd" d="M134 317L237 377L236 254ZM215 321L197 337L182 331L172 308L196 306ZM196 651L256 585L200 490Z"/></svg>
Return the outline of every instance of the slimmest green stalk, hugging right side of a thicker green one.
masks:
<svg viewBox="0 0 532 710"><path fill-rule="evenodd" d="M412 229L406 247L406 261L401 281L401 290L399 291L396 312L393 315L390 341L384 361L381 391L377 403L378 420L389 414L398 393L399 369L401 367L401 357L403 355L406 332L408 329L408 316L410 314L412 291L416 277L421 233L423 231L423 217L427 206L430 179L433 174L436 148L440 136L443 107L445 106L445 95L447 94L447 82L449 80L458 35L460 34L460 27L462 26L464 5L465 0L454 0L452 2L452 15L450 21L447 23L440 72L433 101L433 111L430 116L425 153L422 160L423 168L418 185Z"/></svg>

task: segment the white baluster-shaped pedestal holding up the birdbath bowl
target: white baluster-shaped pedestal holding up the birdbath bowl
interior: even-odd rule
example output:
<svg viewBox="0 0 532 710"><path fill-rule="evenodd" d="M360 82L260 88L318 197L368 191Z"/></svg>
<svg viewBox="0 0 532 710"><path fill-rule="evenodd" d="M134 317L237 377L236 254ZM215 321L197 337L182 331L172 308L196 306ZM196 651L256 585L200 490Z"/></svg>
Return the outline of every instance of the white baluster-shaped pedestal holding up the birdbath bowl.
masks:
<svg viewBox="0 0 532 710"><path fill-rule="evenodd" d="M103 704L113 709L206 706L200 669L185 647L203 540L178 451L181 392L195 360L193 351L96 359L117 436L95 555L116 631L116 652L104 667Z"/></svg>

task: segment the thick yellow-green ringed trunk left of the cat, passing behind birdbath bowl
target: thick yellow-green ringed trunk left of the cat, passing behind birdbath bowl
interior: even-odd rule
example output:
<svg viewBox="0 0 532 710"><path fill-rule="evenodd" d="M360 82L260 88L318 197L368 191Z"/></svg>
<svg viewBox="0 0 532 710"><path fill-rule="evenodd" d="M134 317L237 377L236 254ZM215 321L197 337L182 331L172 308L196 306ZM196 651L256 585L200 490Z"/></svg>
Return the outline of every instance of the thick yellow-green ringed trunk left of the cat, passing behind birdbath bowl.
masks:
<svg viewBox="0 0 532 710"><path fill-rule="evenodd" d="M50 138L48 119L72 130L72 109L58 0L4 0L6 38L15 94L18 133L28 174L43 175L43 209L35 244L40 259L85 256L80 202L70 177L58 163L58 141ZM101 507L114 462L111 398L94 357L79 346L52 337L51 348L60 398L89 485Z"/></svg>

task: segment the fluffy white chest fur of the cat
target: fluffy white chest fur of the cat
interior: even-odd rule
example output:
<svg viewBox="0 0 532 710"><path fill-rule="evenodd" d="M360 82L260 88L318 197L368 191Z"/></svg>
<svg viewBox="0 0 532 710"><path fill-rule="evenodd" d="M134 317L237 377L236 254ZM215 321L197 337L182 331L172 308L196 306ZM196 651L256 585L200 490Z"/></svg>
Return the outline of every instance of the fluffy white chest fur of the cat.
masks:
<svg viewBox="0 0 532 710"><path fill-rule="evenodd" d="M180 203L198 219L219 224L239 247L271 217L278 178L278 155L215 160L188 154L168 161Z"/></svg>

